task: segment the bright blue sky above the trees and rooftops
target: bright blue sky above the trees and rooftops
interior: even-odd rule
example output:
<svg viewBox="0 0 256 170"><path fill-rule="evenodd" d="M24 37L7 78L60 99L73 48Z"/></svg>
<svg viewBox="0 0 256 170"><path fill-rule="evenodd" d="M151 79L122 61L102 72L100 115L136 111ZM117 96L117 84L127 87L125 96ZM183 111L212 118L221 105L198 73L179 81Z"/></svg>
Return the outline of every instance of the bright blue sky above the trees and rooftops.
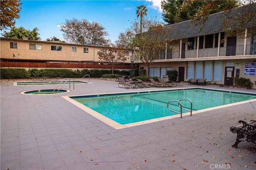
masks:
<svg viewBox="0 0 256 170"><path fill-rule="evenodd" d="M130 27L130 21L136 19L137 6L145 5L147 16L157 16L162 20L161 0L21 0L20 18L16 27L26 30L39 29L44 41L50 37L64 40L58 27L65 19L77 18L99 22L105 27L110 40L114 42L120 32Z"/></svg>

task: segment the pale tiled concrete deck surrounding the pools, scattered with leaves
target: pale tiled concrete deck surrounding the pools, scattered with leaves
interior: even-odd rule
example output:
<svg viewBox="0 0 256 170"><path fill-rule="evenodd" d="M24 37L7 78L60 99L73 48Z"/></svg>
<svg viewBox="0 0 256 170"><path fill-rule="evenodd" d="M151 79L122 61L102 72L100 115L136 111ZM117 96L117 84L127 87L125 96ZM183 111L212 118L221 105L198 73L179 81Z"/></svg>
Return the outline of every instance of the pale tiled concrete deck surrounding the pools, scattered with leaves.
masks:
<svg viewBox="0 0 256 170"><path fill-rule="evenodd" d="M255 145L241 142L232 148L236 134L229 130L239 120L256 119L255 100L115 129L63 96L168 88L124 89L118 88L118 82L91 78L88 84L71 86L69 93L22 95L21 91L56 85L13 86L14 82L1 81L1 170L256 169ZM177 86L186 87L202 86ZM204 88L256 93L255 89Z"/></svg>

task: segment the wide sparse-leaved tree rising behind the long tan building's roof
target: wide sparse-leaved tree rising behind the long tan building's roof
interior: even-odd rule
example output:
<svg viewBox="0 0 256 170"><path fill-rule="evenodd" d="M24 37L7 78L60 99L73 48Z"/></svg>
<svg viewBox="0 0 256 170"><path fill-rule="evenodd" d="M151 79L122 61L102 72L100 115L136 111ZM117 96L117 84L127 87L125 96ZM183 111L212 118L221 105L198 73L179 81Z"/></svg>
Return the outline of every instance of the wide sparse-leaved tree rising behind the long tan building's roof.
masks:
<svg viewBox="0 0 256 170"><path fill-rule="evenodd" d="M105 45L109 40L105 36L108 33L98 22L89 22L88 20L67 20L60 26L60 31L64 32L65 40L70 43Z"/></svg>

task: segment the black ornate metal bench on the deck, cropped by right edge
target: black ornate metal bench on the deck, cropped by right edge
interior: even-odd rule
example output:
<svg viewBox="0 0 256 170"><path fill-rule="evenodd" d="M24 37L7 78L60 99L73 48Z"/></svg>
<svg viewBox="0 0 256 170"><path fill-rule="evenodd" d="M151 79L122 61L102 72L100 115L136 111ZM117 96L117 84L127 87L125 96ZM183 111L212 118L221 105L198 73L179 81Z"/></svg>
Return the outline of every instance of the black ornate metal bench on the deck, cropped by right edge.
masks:
<svg viewBox="0 0 256 170"><path fill-rule="evenodd" d="M237 134L236 142L232 147L237 148L238 144L242 141L252 142L256 145L256 121L252 120L248 123L245 121L238 122L243 123L243 125L230 127L230 131Z"/></svg>

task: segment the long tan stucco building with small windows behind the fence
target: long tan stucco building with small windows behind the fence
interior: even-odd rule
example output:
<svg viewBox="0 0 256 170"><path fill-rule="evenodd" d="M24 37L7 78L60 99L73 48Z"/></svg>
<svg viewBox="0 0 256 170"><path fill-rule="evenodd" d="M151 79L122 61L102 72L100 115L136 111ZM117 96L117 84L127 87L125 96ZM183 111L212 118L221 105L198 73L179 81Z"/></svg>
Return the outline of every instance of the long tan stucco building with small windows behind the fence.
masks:
<svg viewBox="0 0 256 170"><path fill-rule="evenodd" d="M1 61L24 61L46 63L99 63L98 52L103 46L60 43L14 38L0 38ZM132 51L125 51L131 63Z"/></svg>

